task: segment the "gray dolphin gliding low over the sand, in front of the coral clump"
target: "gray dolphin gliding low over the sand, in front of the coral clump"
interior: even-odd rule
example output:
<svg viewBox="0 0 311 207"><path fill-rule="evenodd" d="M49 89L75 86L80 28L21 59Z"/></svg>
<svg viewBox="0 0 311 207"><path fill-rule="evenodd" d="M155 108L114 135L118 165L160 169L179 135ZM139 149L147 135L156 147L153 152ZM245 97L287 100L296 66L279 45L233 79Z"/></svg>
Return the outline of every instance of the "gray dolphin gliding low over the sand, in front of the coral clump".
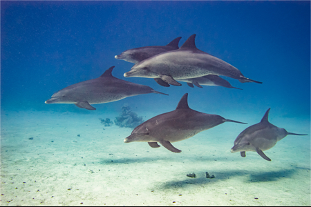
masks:
<svg viewBox="0 0 311 207"><path fill-rule="evenodd" d="M213 128L225 121L245 124L239 121L225 119L218 115L209 115L188 106L188 94L180 99L176 110L153 117L134 128L125 143L132 141L146 141L151 148L158 148L158 142L171 152L181 152L171 145L171 142L182 141Z"/></svg>

